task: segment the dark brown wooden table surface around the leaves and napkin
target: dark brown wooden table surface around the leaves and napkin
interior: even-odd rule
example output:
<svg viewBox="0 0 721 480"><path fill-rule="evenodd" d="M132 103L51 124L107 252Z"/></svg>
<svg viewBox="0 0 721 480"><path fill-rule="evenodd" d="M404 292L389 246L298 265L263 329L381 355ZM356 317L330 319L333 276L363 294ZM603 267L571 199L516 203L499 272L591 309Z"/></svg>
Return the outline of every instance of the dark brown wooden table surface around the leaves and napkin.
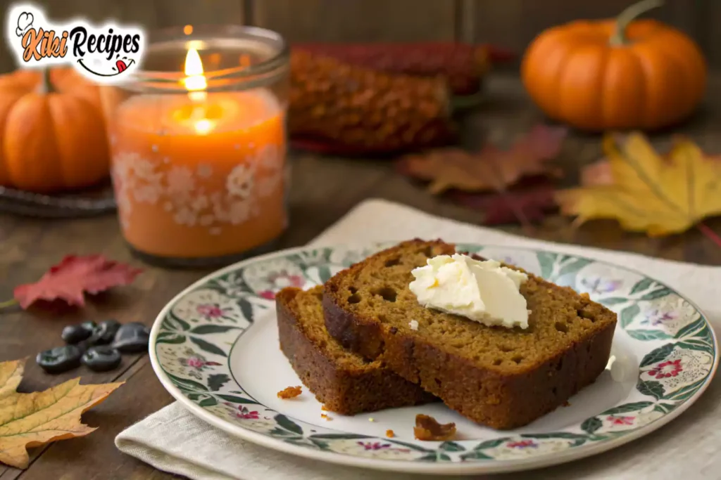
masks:
<svg viewBox="0 0 721 480"><path fill-rule="evenodd" d="M712 79L709 91L721 92L720 79ZM542 121L531 107L513 76L496 75L487 85L487 100L466 117L467 142L492 138L508 143L535 122ZM721 153L721 95L707 99L703 111L676 132L690 135L702 148ZM666 144L668 132L654 137ZM600 139L594 135L570 135L559 162L566 166L567 184L578 178L578 166L598 158ZM340 219L359 201L381 197L464 222L480 224L482 213L458 207L425 192L423 186L396 173L387 160L348 160L317 155L292 155L291 227L281 248L303 245ZM707 222L721 232L721 219ZM502 230L521 233L519 227ZM628 250L660 258L721 266L721 248L698 231L664 239L623 232L614 222L595 222L572 230L569 219L548 217L531 235L544 240ZM68 253L103 253L118 261L140 264L131 258L120 236L115 215L91 219L46 220L0 214L0 300L9 299L17 284L36 281ZM83 415L89 425L99 427L84 438L64 440L31 451L30 468L19 471L0 464L0 480L169 479L115 448L113 439L128 425L172 402L152 371L147 355L125 356L123 364L109 373L85 369L48 376L32 361L35 354L61 343L64 325L81 320L115 318L120 322L151 325L156 314L185 286L209 270L164 270L146 266L133 286L104 295L102 302L79 312L53 316L38 312L12 311L0 314L0 361L30 356L21 391L46 389L82 375L84 383L125 381L106 402ZM608 455L612 455L609 453Z"/></svg>

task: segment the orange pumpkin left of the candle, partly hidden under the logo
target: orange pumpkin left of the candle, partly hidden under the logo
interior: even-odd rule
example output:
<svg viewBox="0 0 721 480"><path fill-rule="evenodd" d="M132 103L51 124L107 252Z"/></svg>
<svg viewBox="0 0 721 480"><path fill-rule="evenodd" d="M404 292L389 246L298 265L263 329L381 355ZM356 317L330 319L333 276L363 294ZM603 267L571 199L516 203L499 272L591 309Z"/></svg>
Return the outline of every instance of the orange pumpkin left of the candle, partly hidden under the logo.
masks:
<svg viewBox="0 0 721 480"><path fill-rule="evenodd" d="M110 170L97 86L69 69L0 76L0 185L49 193Z"/></svg>

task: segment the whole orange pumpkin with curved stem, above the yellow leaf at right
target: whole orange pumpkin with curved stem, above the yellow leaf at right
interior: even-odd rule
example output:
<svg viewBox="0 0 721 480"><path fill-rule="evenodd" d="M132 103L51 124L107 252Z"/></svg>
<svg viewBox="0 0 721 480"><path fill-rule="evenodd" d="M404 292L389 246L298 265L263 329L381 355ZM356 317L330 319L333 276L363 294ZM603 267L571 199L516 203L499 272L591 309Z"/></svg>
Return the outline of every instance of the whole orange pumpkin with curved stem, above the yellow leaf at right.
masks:
<svg viewBox="0 0 721 480"><path fill-rule="evenodd" d="M688 117L704 96L706 61L679 30L634 20L655 6L645 0L616 20L542 32L521 65L528 94L548 117L580 130L655 130Z"/></svg>

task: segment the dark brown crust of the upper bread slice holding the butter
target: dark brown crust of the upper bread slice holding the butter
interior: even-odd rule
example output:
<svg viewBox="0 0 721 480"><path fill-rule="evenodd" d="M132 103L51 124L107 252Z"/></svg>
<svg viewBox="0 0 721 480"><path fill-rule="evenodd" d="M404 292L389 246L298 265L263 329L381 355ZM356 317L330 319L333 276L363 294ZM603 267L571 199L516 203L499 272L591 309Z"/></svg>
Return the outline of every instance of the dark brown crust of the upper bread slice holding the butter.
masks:
<svg viewBox="0 0 721 480"><path fill-rule="evenodd" d="M416 248L423 245L422 240L411 242ZM395 248L400 252L408 245L402 243ZM600 322L602 325L552 358L513 372L483 368L412 330L399 330L376 318L350 312L337 294L339 282L344 276L366 268L373 256L337 273L326 283L323 308L329 334L345 348L366 358L382 356L384 363L399 376L420 384L470 420L498 430L527 425L565 404L606 368L616 316L597 304L607 316ZM564 288L545 283L549 289Z"/></svg>

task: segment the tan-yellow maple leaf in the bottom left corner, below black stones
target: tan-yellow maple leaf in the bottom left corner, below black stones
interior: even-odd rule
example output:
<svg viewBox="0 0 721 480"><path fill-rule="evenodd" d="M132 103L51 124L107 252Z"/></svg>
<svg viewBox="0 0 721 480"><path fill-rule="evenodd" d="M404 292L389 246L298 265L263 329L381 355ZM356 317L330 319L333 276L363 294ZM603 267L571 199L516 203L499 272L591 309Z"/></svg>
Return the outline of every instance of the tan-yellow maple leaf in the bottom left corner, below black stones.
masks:
<svg viewBox="0 0 721 480"><path fill-rule="evenodd" d="M45 391L19 394L15 389L24 366L25 360L0 363L0 462L17 468L27 468L27 448L94 431L83 425L80 415L123 384L81 385L80 379L72 379Z"/></svg>

